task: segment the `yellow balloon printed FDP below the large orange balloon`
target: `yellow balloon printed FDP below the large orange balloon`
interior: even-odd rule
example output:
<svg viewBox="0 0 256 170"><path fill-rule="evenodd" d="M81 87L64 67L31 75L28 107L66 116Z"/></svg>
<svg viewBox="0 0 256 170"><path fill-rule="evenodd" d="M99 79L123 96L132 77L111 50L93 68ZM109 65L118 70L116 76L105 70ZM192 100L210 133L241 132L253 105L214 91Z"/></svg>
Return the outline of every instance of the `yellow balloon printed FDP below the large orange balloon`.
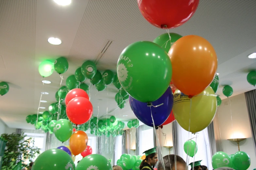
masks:
<svg viewBox="0 0 256 170"><path fill-rule="evenodd" d="M183 129L196 133L212 122L217 109L217 99L215 96L210 96L211 94L214 92L210 86L191 99L178 89L174 92L173 112L175 119Z"/></svg>

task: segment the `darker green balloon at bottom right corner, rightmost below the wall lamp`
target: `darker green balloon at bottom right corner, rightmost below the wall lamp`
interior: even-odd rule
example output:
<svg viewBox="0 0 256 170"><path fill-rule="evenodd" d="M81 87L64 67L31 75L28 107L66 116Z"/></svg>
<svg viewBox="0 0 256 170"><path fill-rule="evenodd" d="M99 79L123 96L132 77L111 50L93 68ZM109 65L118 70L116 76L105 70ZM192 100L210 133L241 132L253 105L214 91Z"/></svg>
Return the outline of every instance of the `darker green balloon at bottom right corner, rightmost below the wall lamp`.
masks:
<svg viewBox="0 0 256 170"><path fill-rule="evenodd" d="M251 159L246 152L238 151L233 156L233 164L239 170L246 170L251 164Z"/></svg>

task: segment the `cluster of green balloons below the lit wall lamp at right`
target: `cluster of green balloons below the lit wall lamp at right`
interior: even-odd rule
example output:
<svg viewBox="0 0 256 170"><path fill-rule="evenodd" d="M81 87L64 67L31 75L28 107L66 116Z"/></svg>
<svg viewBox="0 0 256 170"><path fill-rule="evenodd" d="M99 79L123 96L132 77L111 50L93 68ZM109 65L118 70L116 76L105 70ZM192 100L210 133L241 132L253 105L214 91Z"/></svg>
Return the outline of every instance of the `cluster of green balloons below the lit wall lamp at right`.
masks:
<svg viewBox="0 0 256 170"><path fill-rule="evenodd" d="M220 167L230 167L233 169L246 170L251 164L251 159L246 152L238 151L235 154L228 155L225 152L216 152L212 157L214 169Z"/></svg>

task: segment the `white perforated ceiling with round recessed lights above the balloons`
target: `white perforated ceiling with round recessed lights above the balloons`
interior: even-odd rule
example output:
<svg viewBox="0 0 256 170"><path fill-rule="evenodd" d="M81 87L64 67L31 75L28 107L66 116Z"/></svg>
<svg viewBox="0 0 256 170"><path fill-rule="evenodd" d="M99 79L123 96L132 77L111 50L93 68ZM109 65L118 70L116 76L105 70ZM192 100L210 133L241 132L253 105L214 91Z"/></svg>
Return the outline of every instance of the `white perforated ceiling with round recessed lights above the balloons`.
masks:
<svg viewBox="0 0 256 170"><path fill-rule="evenodd" d="M184 25L170 30L180 35L199 35L216 50L220 85L231 85L234 94L254 89L247 83L249 70L256 68L256 59L247 55L256 52L256 1L201 0L195 15ZM96 60L106 43L112 43L97 63L101 71L115 71L121 51L135 41L152 41L165 30L150 25L141 15L136 0L73 0L59 6L53 0L0 0L0 81L9 82L8 94L0 97L0 118L11 128L33 129L25 118L37 113L40 92L41 106L55 102L60 76L54 72L42 84L39 64L65 56L69 62L65 79L86 60ZM48 37L59 37L62 44L51 45ZM88 85L90 84L87 80ZM217 94L222 95L222 87ZM113 85L102 92L90 86L94 116L107 113L120 119L134 119L129 103L120 110L114 101ZM99 111L98 111L99 110ZM112 111L114 110L114 111ZM43 109L40 109L43 111ZM128 115L128 117L122 117Z"/></svg>

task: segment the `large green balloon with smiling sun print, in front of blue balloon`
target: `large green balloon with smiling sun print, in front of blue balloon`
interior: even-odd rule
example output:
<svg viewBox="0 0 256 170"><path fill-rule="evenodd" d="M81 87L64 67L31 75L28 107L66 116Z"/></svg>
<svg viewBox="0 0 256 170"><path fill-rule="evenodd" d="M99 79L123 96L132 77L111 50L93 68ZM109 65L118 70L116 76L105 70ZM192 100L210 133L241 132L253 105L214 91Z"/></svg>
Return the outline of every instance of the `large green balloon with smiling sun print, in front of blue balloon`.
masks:
<svg viewBox="0 0 256 170"><path fill-rule="evenodd" d="M159 99L172 78L172 64L157 44L139 41L126 47L117 62L117 77L128 94L140 102Z"/></svg>

